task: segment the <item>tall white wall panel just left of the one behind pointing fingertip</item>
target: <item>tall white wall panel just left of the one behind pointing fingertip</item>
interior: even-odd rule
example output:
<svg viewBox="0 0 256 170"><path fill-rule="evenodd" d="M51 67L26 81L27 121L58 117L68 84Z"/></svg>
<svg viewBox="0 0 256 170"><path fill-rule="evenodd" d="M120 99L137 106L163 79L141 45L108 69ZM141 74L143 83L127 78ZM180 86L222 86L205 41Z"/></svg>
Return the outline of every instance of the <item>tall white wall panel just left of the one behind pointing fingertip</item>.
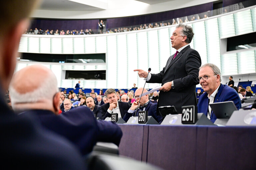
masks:
<svg viewBox="0 0 256 170"><path fill-rule="evenodd" d="M117 39L117 87L127 88L127 43L126 34L116 36Z"/></svg>

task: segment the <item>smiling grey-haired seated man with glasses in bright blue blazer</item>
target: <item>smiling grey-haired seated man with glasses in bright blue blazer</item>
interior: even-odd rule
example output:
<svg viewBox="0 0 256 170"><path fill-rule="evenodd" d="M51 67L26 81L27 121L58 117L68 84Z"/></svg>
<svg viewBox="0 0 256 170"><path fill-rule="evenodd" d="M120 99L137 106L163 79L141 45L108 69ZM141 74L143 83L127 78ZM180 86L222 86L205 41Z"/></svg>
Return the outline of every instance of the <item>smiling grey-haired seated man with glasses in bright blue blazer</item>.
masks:
<svg viewBox="0 0 256 170"><path fill-rule="evenodd" d="M198 113L204 113L213 123L217 119L209 104L217 102L233 101L236 108L241 108L241 100L235 89L221 84L220 69L211 63L199 68L199 82L203 93L198 100Z"/></svg>

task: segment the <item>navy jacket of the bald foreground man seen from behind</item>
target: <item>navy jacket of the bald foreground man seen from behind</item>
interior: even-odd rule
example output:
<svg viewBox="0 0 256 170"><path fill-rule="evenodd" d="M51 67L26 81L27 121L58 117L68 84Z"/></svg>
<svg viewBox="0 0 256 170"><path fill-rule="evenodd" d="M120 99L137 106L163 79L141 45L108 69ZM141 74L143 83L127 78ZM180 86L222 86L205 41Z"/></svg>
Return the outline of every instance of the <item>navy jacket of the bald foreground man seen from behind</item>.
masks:
<svg viewBox="0 0 256 170"><path fill-rule="evenodd" d="M90 153L97 141L119 145L122 137L117 124L97 121L88 107L77 107L60 115L48 110L30 110L21 115L37 115L44 128L66 137L83 155Z"/></svg>

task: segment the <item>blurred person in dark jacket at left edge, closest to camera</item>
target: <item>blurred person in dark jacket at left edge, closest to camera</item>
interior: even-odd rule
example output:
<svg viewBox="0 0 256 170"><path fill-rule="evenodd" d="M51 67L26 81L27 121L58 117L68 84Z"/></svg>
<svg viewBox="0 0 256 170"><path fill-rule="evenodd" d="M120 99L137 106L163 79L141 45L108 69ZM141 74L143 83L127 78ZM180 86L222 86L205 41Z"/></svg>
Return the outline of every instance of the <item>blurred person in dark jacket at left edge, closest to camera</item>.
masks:
<svg viewBox="0 0 256 170"><path fill-rule="evenodd" d="M29 27L28 17L37 6L37 2L37 0L1 2L0 94L9 87L16 66L20 38L25 29ZM29 82L32 81L31 79ZM24 84L18 82L18 85ZM19 87L17 91L23 94ZM2 167L8 167L8 169L85 169L80 153L68 140L42 128L34 117L15 115L6 106L2 95L0 107L0 129L2 129L0 153L4 155L1 159Z"/></svg>

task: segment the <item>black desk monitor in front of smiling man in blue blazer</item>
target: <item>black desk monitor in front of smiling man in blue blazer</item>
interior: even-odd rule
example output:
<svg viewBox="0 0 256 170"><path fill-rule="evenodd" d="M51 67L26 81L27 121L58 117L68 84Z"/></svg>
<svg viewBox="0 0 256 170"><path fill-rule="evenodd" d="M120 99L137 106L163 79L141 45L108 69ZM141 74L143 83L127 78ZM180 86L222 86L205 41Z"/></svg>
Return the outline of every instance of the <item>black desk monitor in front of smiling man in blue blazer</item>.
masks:
<svg viewBox="0 0 256 170"><path fill-rule="evenodd" d="M233 101L212 103L210 107L217 119L229 119L232 113L237 110Z"/></svg>

